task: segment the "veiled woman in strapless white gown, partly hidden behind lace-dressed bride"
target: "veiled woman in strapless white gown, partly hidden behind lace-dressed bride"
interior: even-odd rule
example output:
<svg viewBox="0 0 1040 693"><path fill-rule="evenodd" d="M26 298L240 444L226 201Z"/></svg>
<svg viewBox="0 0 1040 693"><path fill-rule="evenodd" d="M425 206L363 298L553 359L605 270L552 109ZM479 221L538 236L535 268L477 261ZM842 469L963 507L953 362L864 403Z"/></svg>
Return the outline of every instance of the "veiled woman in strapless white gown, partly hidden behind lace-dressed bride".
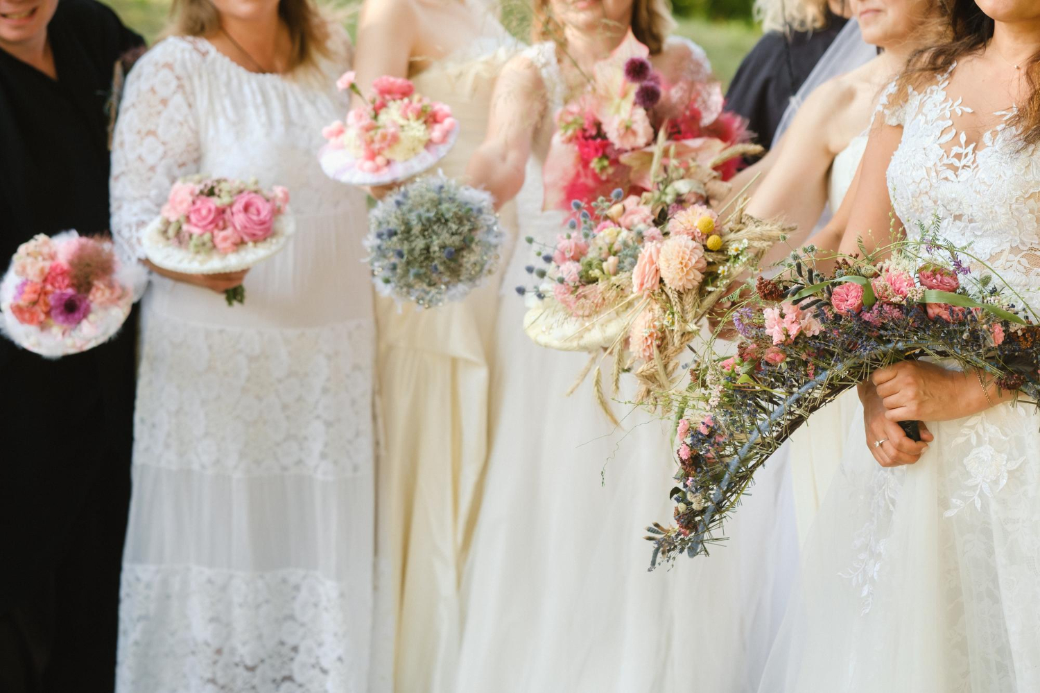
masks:
<svg viewBox="0 0 1040 693"><path fill-rule="evenodd" d="M914 49L928 42L931 27L925 20L941 11L935 0L896 0L875 9L873 5L861 7L855 19L862 39L882 52L866 64L824 82L809 95L782 136L772 167L748 205L750 214L782 217L797 229L786 244L778 244L766 256L764 267L806 240L817 247L837 249L840 229L828 225L820 233L812 231L822 214L828 210L831 214L838 212L846 193L854 188L879 96ZM771 460L772 464L786 463L790 468L802 540L841 459L855 402L855 395L847 393L813 414Z"/></svg>

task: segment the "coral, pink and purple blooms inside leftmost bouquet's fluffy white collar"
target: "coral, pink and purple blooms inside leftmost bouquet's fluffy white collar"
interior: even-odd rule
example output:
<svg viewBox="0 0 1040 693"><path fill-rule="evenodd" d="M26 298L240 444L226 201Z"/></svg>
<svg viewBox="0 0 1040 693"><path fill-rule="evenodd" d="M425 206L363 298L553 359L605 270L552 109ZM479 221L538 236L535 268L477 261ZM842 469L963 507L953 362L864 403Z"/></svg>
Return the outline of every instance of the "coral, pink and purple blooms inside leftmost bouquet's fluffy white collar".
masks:
<svg viewBox="0 0 1040 693"><path fill-rule="evenodd" d="M55 242L40 235L23 243L14 259L21 281L9 310L25 325L73 328L94 308L114 305L128 290L114 277L111 243L73 236Z"/></svg>

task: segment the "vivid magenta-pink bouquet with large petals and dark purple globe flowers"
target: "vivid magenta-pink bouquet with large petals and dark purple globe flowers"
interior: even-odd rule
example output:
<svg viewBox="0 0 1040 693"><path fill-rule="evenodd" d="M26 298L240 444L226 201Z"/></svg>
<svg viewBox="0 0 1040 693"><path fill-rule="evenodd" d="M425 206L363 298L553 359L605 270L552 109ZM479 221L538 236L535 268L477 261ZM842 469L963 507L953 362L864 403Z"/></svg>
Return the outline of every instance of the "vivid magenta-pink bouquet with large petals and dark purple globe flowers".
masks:
<svg viewBox="0 0 1040 693"><path fill-rule="evenodd" d="M710 75L687 71L668 83L649 55L629 32L596 63L588 89L556 114L544 167L546 209L591 204L615 188L626 195L649 189L655 142L673 144L679 161L711 162L723 180L743 156L761 151L743 143L745 123L723 110L722 87Z"/></svg>

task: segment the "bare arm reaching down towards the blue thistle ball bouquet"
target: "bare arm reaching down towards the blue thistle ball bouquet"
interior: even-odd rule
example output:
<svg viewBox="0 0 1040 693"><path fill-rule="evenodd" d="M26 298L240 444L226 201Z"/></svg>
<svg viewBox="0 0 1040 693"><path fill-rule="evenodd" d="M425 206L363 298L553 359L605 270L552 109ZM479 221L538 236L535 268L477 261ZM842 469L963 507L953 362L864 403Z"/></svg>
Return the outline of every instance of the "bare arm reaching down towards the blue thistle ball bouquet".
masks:
<svg viewBox="0 0 1040 693"><path fill-rule="evenodd" d="M473 185L485 188L501 207L520 192L535 132L545 113L545 84L526 57L513 58L495 84L488 134L466 168Z"/></svg>

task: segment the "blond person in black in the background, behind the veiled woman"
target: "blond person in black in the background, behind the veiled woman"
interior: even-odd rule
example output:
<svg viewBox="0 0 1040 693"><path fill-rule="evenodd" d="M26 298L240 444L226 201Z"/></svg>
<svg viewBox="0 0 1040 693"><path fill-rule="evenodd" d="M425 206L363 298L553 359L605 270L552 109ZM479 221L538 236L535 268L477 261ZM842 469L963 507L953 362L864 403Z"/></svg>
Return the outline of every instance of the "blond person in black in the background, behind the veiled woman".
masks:
<svg viewBox="0 0 1040 693"><path fill-rule="evenodd" d="M774 135L787 104L830 48L848 21L844 0L769 0L784 5L777 20L780 27L764 26L765 33L751 49L733 76L726 92L726 107L748 118L755 142L773 148ZM807 21L806 7L814 11ZM794 26L794 28L791 28Z"/></svg>

